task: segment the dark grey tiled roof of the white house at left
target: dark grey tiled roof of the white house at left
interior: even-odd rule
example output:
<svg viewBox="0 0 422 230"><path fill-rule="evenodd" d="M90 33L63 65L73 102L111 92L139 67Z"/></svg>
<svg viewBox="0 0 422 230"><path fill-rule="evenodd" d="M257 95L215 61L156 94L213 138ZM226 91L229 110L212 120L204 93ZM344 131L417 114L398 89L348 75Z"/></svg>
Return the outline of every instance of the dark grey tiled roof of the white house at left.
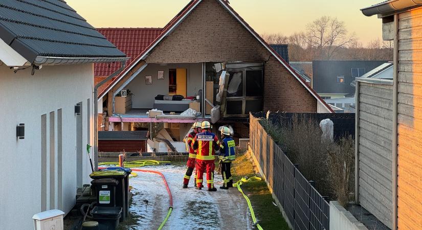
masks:
<svg viewBox="0 0 422 230"><path fill-rule="evenodd" d="M62 0L0 0L0 38L30 63L121 61L116 49ZM101 60L100 60L101 59Z"/></svg>

